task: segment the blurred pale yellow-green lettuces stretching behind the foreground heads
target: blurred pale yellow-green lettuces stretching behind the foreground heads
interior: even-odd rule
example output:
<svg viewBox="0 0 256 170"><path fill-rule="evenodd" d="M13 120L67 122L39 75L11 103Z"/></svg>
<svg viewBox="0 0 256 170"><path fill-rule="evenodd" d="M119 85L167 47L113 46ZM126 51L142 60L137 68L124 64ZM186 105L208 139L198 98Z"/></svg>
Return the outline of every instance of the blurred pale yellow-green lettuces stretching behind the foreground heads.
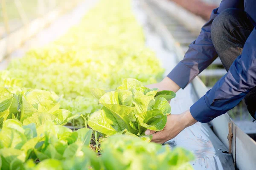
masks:
<svg viewBox="0 0 256 170"><path fill-rule="evenodd" d="M0 87L54 91L62 95L62 109L87 117L100 108L91 88L115 89L124 78L150 84L162 75L155 53L145 47L131 1L99 0L58 40L12 60L0 72ZM70 123L82 127L84 120Z"/></svg>

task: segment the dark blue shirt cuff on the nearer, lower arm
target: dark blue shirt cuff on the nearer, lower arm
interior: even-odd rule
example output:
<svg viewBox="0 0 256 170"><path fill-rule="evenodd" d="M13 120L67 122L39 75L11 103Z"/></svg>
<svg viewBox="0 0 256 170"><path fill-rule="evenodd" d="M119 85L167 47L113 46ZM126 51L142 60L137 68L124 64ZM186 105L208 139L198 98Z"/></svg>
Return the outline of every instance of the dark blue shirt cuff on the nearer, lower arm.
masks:
<svg viewBox="0 0 256 170"><path fill-rule="evenodd" d="M196 119L198 122L201 123L207 123L210 122L212 119L214 119L216 116L216 111L210 109L205 100L204 96L201 97L197 102L195 102L194 105L190 107L190 113L193 116L194 119Z"/></svg>

